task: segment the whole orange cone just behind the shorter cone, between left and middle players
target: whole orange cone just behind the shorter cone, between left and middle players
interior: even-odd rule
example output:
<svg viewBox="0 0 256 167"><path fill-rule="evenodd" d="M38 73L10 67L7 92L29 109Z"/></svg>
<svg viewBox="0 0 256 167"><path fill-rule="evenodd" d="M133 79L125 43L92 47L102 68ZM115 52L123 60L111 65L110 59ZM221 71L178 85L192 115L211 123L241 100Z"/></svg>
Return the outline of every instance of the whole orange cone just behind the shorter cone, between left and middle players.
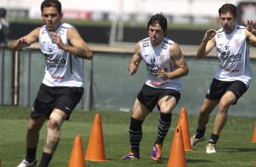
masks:
<svg viewBox="0 0 256 167"><path fill-rule="evenodd" d="M107 161L105 160L102 120L99 113L96 113L94 116L94 124L90 134L90 139L87 145L84 159L94 162Z"/></svg>

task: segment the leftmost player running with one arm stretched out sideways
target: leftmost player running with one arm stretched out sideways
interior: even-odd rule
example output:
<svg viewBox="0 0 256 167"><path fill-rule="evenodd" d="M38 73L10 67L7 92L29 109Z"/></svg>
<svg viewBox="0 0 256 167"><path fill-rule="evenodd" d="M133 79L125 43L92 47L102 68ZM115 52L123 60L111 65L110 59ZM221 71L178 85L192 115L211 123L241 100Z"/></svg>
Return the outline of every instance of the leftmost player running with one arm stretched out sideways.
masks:
<svg viewBox="0 0 256 167"><path fill-rule="evenodd" d="M62 23L62 5L58 0L41 4L44 25L11 42L13 51L39 42L44 55L44 79L34 100L26 133L26 156L18 167L35 166L39 132L47 121L47 136L40 167L49 165L60 140L64 120L68 120L84 93L83 59L93 53L74 26Z"/></svg>

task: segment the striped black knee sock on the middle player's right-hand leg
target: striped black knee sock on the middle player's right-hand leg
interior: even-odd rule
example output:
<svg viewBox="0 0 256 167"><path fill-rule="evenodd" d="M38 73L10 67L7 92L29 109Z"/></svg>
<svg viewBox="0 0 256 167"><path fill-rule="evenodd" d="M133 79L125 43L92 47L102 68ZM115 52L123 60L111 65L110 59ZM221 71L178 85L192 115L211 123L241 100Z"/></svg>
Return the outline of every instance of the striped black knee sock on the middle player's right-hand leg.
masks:
<svg viewBox="0 0 256 167"><path fill-rule="evenodd" d="M168 133L172 123L172 113L160 113L158 123L158 133L155 143L162 145L162 142Z"/></svg>

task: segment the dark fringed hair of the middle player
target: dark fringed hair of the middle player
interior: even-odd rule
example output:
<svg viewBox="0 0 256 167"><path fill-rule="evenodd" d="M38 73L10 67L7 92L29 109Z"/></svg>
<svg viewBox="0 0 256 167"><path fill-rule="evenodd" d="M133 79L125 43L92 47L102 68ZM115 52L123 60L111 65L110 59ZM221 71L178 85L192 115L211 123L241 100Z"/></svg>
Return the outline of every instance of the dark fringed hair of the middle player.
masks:
<svg viewBox="0 0 256 167"><path fill-rule="evenodd" d="M148 27L147 27L148 30L149 30L150 25L156 25L156 24L161 25L163 33L165 35L166 34L166 29L167 29L167 19L166 19L166 17L163 16L162 14L153 15L150 18L149 22L148 22Z"/></svg>

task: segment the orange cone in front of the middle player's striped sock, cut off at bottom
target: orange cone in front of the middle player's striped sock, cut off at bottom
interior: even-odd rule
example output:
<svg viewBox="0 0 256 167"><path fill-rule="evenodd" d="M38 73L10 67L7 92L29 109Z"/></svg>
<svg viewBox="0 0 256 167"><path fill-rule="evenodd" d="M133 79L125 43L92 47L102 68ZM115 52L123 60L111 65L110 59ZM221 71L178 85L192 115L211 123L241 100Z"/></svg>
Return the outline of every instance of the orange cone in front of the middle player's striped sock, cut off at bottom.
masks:
<svg viewBox="0 0 256 167"><path fill-rule="evenodd" d="M177 127L172 139L167 167L186 167L184 144L182 139L182 127Z"/></svg>

